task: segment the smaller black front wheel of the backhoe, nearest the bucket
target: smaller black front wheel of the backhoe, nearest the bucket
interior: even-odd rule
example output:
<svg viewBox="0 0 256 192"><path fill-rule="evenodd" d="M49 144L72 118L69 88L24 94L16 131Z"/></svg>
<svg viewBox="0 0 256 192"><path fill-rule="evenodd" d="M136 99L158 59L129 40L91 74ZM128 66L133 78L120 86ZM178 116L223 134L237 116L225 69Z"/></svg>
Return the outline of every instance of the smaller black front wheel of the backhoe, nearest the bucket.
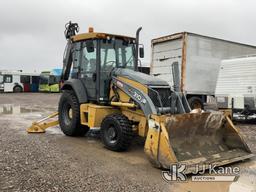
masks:
<svg viewBox="0 0 256 192"><path fill-rule="evenodd" d="M101 123L101 139L112 151L125 151L133 139L131 121L122 114L111 114Z"/></svg>

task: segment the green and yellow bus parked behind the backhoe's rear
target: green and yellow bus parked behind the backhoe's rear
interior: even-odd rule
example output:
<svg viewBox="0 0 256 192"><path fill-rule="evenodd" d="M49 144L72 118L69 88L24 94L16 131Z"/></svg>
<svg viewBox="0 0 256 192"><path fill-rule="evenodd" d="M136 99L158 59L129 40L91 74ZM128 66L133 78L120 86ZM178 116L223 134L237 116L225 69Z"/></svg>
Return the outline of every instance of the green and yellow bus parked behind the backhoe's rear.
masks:
<svg viewBox="0 0 256 192"><path fill-rule="evenodd" d="M60 76L62 69L53 69L52 71L43 71L40 74L39 91L40 92L60 92Z"/></svg>

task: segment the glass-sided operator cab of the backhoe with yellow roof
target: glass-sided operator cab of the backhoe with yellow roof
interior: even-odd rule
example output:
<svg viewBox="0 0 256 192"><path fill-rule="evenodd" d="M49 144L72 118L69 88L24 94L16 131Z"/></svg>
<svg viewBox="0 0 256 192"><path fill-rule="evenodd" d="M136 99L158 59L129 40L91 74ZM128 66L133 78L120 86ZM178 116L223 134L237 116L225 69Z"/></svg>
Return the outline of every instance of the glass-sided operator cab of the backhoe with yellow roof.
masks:
<svg viewBox="0 0 256 192"><path fill-rule="evenodd" d="M86 87L89 101L109 102L111 72L115 68L137 70L136 39L127 36L89 33L71 37L73 77ZM143 57L143 48L140 57Z"/></svg>

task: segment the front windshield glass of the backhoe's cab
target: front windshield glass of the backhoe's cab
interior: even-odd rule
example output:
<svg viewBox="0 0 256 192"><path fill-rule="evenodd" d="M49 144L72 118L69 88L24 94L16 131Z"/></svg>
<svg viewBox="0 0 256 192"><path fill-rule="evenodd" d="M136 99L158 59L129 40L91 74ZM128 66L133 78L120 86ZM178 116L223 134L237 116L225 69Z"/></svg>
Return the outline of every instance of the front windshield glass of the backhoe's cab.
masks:
<svg viewBox="0 0 256 192"><path fill-rule="evenodd" d="M100 41L101 70L110 71L114 67L134 69L135 41L102 39Z"/></svg>

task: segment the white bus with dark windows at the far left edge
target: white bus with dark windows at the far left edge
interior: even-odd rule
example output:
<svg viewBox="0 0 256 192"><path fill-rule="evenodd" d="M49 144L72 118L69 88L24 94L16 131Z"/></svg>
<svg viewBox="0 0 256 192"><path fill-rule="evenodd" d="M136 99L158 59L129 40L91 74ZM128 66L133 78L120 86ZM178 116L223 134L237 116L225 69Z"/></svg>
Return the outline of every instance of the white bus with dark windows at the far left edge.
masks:
<svg viewBox="0 0 256 192"><path fill-rule="evenodd" d="M0 72L0 92L37 92L38 84L38 73Z"/></svg>

